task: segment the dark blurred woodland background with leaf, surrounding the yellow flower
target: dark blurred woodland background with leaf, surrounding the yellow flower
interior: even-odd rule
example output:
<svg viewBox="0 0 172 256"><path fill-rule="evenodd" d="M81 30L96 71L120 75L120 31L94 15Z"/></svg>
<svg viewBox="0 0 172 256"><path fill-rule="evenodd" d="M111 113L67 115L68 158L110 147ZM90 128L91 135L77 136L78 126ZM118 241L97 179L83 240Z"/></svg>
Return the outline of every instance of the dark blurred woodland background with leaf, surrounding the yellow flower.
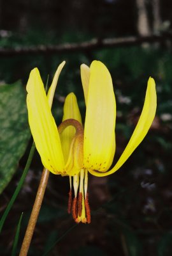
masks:
<svg viewBox="0 0 172 256"><path fill-rule="evenodd" d="M59 125L69 92L75 92L84 122L80 65L103 61L110 70L117 100L114 163L134 131L149 76L157 87L157 115L143 143L113 175L89 175L90 225L75 225L68 216L68 177L50 174L29 255L45 255L51 246L47 255L171 255L171 8L170 0L0 0L1 215L31 148L25 84L32 68L39 68L45 84L49 75L50 85L57 66L66 60L53 108ZM24 212L20 250L42 169L35 152L1 232L1 255L11 255L17 223Z"/></svg>

